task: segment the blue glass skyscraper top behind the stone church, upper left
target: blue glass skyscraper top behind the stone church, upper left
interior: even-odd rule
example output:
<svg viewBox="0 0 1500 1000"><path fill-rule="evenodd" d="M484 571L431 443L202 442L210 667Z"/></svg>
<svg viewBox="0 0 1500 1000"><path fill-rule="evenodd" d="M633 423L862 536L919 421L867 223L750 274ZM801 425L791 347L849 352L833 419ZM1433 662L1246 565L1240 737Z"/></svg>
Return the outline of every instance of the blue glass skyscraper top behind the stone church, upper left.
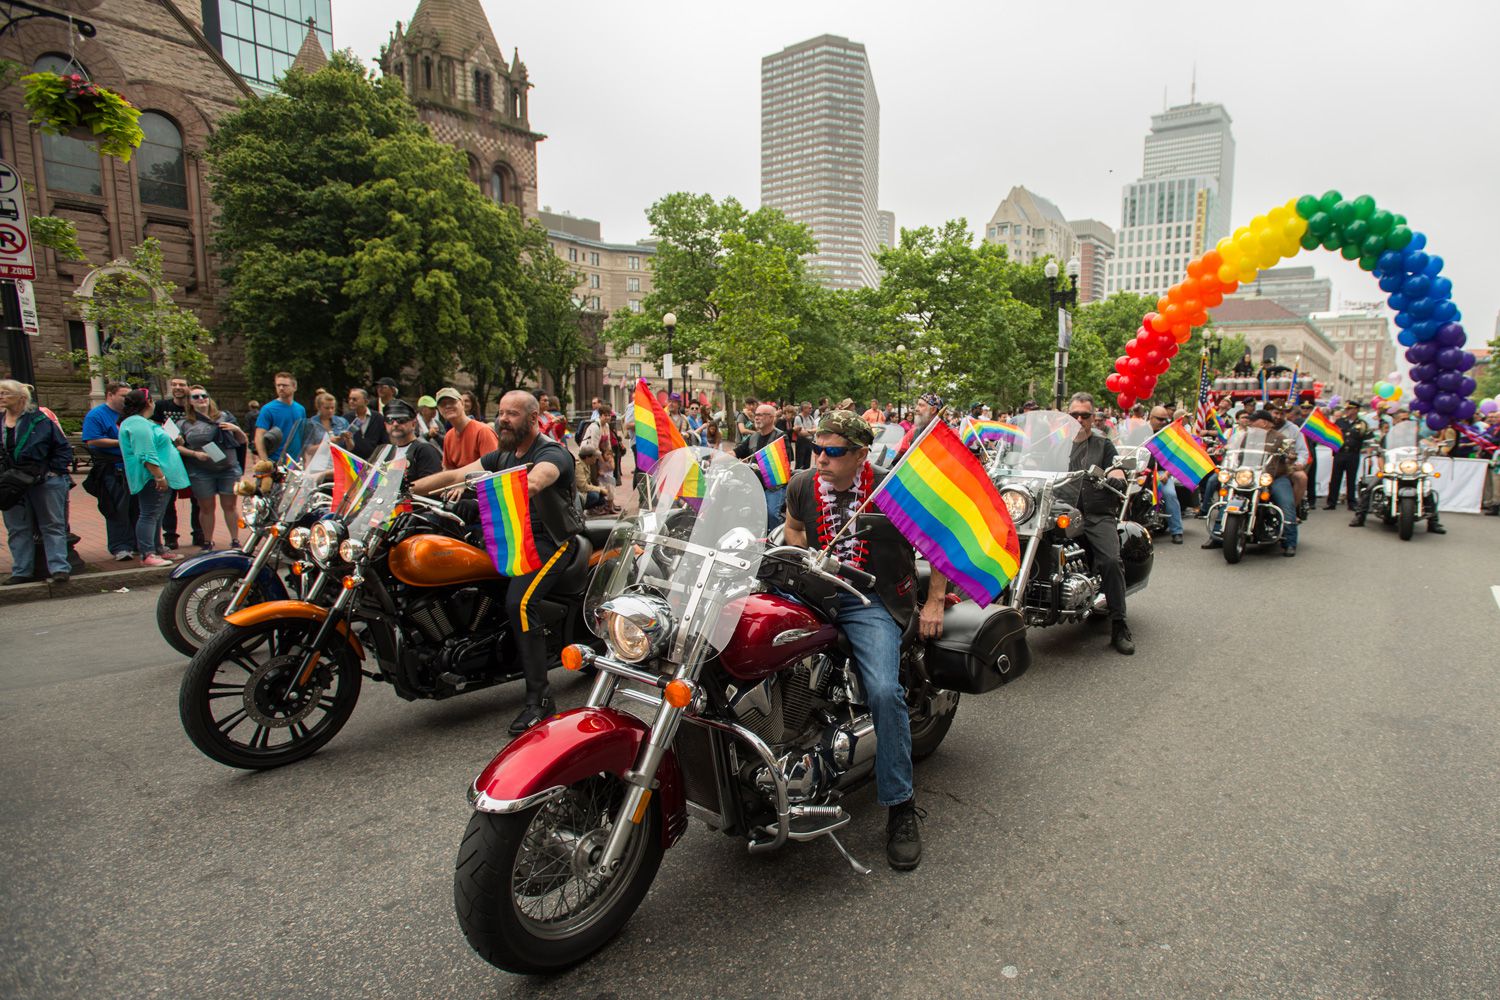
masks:
<svg viewBox="0 0 1500 1000"><path fill-rule="evenodd" d="M333 0L202 0L202 33L225 61L258 90L291 69L308 19L322 51L333 51Z"/></svg>

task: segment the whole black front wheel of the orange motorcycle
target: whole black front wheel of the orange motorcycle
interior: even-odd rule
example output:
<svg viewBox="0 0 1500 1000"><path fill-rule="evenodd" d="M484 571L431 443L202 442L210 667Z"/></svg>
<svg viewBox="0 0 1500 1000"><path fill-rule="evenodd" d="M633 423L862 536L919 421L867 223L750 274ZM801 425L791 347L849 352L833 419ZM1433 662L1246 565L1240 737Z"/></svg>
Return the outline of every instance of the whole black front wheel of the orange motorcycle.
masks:
<svg viewBox="0 0 1500 1000"><path fill-rule="evenodd" d="M360 663L334 633L312 679L290 691L318 622L225 625L183 676L177 709L194 747L231 768L262 769L314 754L344 729L360 696Z"/></svg>

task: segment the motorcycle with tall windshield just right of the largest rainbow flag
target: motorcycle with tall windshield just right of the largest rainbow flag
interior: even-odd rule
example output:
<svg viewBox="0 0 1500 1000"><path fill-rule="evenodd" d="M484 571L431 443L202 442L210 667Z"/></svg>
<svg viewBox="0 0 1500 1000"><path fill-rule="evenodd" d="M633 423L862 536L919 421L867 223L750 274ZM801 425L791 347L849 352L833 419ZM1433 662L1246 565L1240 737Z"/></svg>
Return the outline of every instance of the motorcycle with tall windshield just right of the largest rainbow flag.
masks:
<svg viewBox="0 0 1500 1000"><path fill-rule="evenodd" d="M1078 421L1068 414L1034 409L1011 423L1020 433L996 445L987 468L1022 543L1020 570L1002 600L1020 610L1028 625L1083 621L1104 610L1104 588L1084 547L1083 514L1064 498L1077 496L1086 481L1116 493L1122 505L1125 492L1107 478L1107 469L1068 471L1078 433ZM1136 456L1119 454L1114 468L1131 475ZM1125 592L1136 594L1150 582L1156 558L1150 532L1122 517L1119 540Z"/></svg>

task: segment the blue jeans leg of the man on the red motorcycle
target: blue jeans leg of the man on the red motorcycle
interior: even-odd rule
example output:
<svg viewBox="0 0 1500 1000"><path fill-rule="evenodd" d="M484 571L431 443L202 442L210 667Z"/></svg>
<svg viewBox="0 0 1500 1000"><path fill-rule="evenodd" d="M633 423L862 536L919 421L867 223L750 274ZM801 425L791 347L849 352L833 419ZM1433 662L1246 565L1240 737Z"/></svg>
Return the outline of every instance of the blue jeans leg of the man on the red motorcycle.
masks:
<svg viewBox="0 0 1500 1000"><path fill-rule="evenodd" d="M912 720L902 690L902 627L879 597L872 594L866 606L854 594L842 594L838 628L854 646L855 669L874 717L876 796L884 807L900 805L912 798Z"/></svg>

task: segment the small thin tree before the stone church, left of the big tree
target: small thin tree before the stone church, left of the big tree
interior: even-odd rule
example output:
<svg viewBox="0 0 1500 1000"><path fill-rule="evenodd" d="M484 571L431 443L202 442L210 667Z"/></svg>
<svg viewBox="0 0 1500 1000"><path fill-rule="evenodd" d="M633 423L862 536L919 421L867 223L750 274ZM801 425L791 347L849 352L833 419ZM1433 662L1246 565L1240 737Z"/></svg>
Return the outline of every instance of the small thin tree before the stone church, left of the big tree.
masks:
<svg viewBox="0 0 1500 1000"><path fill-rule="evenodd" d="M162 270L162 244L148 238L134 249L129 259L105 267L128 265L129 271L105 274L94 285L93 298L82 303L82 316L108 336L108 349L99 357L88 351L56 354L87 373L105 381L140 381L142 376L164 391L166 379L207 378L213 370L206 354L213 334L198 316L172 301L177 291Z"/></svg>

